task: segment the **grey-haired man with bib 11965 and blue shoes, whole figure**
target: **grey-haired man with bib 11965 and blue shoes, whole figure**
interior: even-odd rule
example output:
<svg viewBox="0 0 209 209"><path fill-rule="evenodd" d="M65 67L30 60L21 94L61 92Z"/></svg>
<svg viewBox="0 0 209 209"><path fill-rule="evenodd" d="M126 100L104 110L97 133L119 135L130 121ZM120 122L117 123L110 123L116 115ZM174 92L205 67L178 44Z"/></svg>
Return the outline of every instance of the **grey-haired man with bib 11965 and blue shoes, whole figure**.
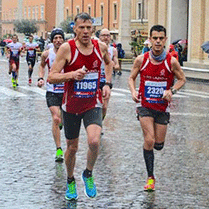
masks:
<svg viewBox="0 0 209 209"><path fill-rule="evenodd" d="M102 130L102 96L110 97L112 62L105 43L91 40L92 18L87 13L75 17L75 40L63 44L49 73L50 83L65 82L63 98L63 120L67 147L65 164L67 167L67 200L77 199L74 167L78 150L81 122L87 133L87 163L82 173L85 194L94 198L97 195L93 178L93 168L99 153ZM101 62L105 62L106 83L99 89ZM61 73L64 68L64 73ZM85 68L85 70L84 70Z"/></svg>

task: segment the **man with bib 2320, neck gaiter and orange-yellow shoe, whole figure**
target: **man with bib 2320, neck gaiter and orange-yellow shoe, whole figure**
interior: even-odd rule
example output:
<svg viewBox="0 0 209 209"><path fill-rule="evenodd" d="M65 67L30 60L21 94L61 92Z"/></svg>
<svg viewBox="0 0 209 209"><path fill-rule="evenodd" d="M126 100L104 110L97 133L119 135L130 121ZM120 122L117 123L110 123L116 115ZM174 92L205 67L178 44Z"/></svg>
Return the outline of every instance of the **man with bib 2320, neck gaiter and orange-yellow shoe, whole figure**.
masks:
<svg viewBox="0 0 209 209"><path fill-rule="evenodd" d="M137 117L144 135L143 154L148 174L145 191L155 190L153 148L163 149L170 118L169 103L186 82L179 62L164 49L166 40L166 29L154 25L150 30L151 51L136 58L129 77L132 99L138 104ZM138 74L140 86L137 92ZM175 84L174 76L177 78Z"/></svg>

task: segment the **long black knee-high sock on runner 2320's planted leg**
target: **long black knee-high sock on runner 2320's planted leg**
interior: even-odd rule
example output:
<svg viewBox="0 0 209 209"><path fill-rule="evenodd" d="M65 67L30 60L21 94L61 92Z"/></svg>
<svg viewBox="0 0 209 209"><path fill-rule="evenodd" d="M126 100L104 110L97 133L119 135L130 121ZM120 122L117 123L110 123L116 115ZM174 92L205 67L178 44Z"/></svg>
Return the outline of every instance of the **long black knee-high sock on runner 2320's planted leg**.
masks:
<svg viewBox="0 0 209 209"><path fill-rule="evenodd" d="M144 149L144 160L147 167L148 177L154 176L154 152L153 150Z"/></svg>

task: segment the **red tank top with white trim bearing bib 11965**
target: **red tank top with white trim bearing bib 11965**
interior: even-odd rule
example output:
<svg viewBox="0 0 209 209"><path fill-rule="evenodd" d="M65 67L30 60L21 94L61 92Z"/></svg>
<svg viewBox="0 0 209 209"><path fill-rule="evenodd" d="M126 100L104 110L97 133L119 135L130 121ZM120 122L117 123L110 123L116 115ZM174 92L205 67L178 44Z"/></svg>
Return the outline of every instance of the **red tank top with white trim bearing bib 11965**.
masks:
<svg viewBox="0 0 209 209"><path fill-rule="evenodd" d="M100 84L102 55L97 40L92 40L93 51L83 55L76 47L75 40L69 42L71 61L64 67L64 72L76 71L86 67L83 80L71 80L65 83L65 93L62 108L66 112L81 114L95 107L102 107Z"/></svg>

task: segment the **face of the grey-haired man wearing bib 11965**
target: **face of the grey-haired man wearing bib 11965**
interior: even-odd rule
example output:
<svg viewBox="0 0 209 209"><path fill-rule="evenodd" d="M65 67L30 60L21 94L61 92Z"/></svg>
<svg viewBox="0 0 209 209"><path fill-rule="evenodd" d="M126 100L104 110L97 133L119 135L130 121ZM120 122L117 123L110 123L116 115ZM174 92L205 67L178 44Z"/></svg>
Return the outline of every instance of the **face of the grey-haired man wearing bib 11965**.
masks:
<svg viewBox="0 0 209 209"><path fill-rule="evenodd" d="M91 20L84 21L83 19L77 19L74 31L76 33L77 40L79 40L82 44L88 44L92 35Z"/></svg>

